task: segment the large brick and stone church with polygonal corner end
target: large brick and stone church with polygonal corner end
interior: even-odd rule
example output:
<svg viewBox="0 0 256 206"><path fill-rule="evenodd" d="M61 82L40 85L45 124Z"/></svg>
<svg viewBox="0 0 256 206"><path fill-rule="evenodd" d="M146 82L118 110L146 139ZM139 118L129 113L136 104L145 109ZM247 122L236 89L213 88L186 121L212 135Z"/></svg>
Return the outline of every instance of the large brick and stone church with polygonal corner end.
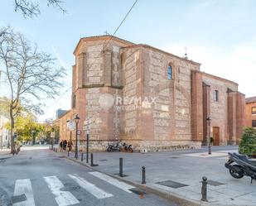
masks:
<svg viewBox="0 0 256 206"><path fill-rule="evenodd" d="M115 36L81 38L74 55L72 107L60 117L61 139L70 139L66 121L78 114L80 149L88 118L94 150L118 140L135 150L198 148L208 135L214 145L238 143L245 102L233 81L201 72L187 57ZM74 143L75 132L71 137Z"/></svg>

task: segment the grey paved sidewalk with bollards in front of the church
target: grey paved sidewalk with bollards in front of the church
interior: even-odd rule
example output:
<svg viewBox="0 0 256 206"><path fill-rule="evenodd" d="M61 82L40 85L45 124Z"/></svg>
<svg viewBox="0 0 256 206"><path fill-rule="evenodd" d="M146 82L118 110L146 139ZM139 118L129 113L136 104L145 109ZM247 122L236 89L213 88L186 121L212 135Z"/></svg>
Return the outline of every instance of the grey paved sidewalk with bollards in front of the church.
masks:
<svg viewBox="0 0 256 206"><path fill-rule="evenodd" d="M94 153L94 163L99 164L97 170L114 175L119 171L119 157L123 157L123 174L127 175L123 180L141 184L143 165L146 166L147 187L157 189L162 194L172 194L201 205L255 206L256 182L250 184L248 177L236 180L225 168L227 152L237 150L237 146L215 146L211 156L208 156L205 148L146 154L98 152ZM70 154L70 159L74 159L74 153ZM202 176L210 180L208 204L200 201Z"/></svg>

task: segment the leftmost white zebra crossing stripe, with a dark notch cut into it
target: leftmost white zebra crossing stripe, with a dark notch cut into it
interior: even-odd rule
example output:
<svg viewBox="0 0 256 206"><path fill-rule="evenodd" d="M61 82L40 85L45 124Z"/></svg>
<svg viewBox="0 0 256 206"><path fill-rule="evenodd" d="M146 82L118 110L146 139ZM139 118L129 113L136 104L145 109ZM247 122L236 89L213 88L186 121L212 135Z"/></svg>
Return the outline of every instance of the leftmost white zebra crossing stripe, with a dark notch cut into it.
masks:
<svg viewBox="0 0 256 206"><path fill-rule="evenodd" d="M12 204L13 206L35 206L31 181L29 179L16 180L13 195L17 196L21 194L25 194L27 200L16 204Z"/></svg>

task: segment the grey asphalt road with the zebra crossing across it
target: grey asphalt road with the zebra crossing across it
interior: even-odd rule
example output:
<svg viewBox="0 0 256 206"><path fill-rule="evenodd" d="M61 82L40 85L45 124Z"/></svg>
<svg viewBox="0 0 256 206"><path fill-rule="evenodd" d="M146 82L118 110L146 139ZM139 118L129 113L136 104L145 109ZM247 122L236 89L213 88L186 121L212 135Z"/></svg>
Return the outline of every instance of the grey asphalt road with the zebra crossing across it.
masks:
<svg viewBox="0 0 256 206"><path fill-rule="evenodd" d="M140 197L133 186L65 160L46 149L0 155L0 205L171 205L153 194Z"/></svg>

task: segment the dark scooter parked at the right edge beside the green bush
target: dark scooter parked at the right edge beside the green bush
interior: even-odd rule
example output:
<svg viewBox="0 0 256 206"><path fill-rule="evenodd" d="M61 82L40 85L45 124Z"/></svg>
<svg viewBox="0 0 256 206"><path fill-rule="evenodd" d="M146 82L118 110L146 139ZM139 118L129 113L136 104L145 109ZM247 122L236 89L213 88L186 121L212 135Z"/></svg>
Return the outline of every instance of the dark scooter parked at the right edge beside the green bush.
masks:
<svg viewBox="0 0 256 206"><path fill-rule="evenodd" d="M249 176L251 183L256 180L256 161L249 160L247 156L229 153L229 160L225 163L225 167L229 169L229 174L235 179Z"/></svg>

